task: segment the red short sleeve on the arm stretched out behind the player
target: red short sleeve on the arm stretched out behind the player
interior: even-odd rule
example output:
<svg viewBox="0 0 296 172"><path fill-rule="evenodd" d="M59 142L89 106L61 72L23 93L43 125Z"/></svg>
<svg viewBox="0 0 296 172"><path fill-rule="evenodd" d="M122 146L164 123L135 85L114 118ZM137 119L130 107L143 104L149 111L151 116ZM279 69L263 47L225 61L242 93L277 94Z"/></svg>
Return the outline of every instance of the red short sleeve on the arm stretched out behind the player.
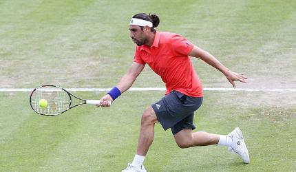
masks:
<svg viewBox="0 0 296 172"><path fill-rule="evenodd" d="M171 46L177 55L188 56L193 48L193 44L178 34L172 36Z"/></svg>

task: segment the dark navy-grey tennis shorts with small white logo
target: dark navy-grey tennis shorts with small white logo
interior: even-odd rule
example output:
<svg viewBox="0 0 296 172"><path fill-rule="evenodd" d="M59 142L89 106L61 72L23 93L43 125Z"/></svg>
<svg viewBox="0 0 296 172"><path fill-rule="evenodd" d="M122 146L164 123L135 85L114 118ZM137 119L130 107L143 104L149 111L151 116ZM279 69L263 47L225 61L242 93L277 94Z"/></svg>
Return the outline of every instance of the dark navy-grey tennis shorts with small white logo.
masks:
<svg viewBox="0 0 296 172"><path fill-rule="evenodd" d="M162 128L165 130L171 128L171 132L176 134L182 129L195 129L194 111L200 105L202 105L202 97L191 97L173 91L151 106Z"/></svg>

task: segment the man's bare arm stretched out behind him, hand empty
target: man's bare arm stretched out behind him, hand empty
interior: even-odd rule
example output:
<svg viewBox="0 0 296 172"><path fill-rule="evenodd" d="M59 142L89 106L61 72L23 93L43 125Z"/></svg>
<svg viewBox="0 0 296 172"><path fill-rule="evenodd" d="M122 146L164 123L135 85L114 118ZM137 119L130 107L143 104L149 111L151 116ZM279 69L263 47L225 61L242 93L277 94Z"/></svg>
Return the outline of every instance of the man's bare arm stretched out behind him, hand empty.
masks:
<svg viewBox="0 0 296 172"><path fill-rule="evenodd" d="M220 61L217 60L217 58L209 54L209 52L202 50L200 47L193 46L191 52L189 53L189 56L200 58L202 61L220 70L220 72L222 72L226 76L227 80L229 80L233 87L235 87L235 80L242 83L247 83L248 78L246 78L244 74L238 74L227 69L224 65L222 65L222 63L220 63Z"/></svg>

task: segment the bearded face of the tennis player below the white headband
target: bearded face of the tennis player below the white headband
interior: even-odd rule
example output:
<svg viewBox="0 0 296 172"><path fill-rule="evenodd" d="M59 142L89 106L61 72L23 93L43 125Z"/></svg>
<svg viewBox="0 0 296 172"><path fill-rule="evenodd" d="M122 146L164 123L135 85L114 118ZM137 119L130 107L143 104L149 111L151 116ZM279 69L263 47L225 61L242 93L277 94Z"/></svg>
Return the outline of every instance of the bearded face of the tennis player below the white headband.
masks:
<svg viewBox="0 0 296 172"><path fill-rule="evenodd" d="M129 25L129 31L131 39L136 43L138 46L144 45L146 43L146 36L145 32L141 30L140 26L138 25Z"/></svg>

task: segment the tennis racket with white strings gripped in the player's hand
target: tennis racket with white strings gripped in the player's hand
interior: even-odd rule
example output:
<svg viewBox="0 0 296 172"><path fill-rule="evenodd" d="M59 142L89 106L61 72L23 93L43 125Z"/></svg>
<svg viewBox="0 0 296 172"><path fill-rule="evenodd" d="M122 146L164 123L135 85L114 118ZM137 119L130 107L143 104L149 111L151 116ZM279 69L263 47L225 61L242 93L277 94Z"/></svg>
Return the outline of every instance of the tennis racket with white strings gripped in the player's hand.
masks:
<svg viewBox="0 0 296 172"><path fill-rule="evenodd" d="M85 104L101 105L101 100L78 98L56 85L41 85L36 87L30 95L32 109L43 116L56 116L73 107ZM111 105L110 100L109 104Z"/></svg>

